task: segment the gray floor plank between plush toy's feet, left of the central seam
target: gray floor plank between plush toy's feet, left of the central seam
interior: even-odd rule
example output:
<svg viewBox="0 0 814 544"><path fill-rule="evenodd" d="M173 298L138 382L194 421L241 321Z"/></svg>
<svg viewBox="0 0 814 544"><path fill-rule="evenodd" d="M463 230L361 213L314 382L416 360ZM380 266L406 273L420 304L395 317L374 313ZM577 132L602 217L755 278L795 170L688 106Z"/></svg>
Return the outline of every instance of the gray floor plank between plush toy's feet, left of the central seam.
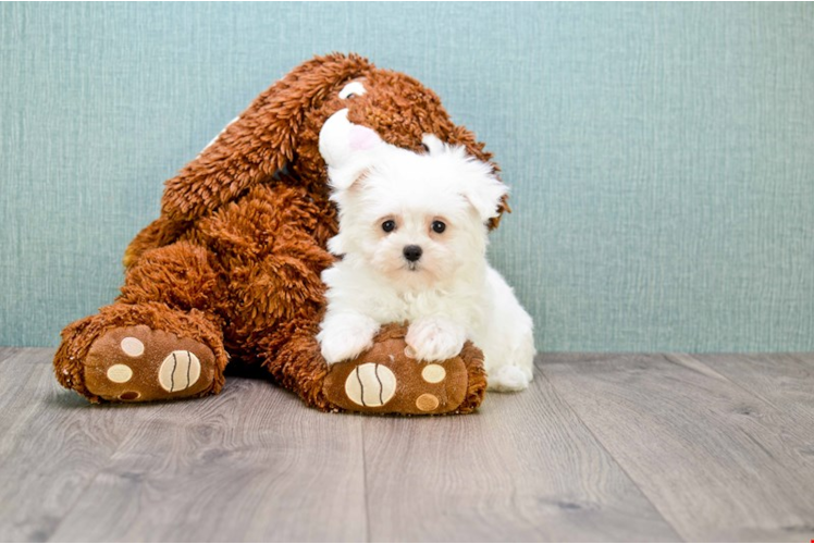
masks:
<svg viewBox="0 0 814 544"><path fill-rule="evenodd" d="M131 433L49 542L367 539L361 422L261 380L139 407Z"/></svg>

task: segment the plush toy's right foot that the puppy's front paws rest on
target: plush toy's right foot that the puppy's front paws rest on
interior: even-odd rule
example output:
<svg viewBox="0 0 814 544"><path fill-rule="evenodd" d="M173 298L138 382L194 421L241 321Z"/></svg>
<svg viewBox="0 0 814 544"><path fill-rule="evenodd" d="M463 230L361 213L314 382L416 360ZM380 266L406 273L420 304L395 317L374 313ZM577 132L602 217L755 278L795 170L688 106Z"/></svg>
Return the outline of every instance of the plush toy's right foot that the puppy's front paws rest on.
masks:
<svg viewBox="0 0 814 544"><path fill-rule="evenodd" d="M456 357L420 362L404 337L407 329L387 325L375 345L351 361L332 364L323 385L338 408L371 413L467 413L486 388L483 355L468 343Z"/></svg>

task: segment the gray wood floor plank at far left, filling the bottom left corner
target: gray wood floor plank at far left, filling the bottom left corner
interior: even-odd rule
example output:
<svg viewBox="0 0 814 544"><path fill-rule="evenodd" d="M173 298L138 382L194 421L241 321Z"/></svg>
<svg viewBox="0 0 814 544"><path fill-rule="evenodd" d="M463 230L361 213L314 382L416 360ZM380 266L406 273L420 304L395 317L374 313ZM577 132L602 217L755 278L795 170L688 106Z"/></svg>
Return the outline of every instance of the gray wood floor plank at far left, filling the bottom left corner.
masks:
<svg viewBox="0 0 814 544"><path fill-rule="evenodd" d="M20 349L0 372L0 534L9 542L45 542L127 431L123 412L62 390L52 357Z"/></svg>

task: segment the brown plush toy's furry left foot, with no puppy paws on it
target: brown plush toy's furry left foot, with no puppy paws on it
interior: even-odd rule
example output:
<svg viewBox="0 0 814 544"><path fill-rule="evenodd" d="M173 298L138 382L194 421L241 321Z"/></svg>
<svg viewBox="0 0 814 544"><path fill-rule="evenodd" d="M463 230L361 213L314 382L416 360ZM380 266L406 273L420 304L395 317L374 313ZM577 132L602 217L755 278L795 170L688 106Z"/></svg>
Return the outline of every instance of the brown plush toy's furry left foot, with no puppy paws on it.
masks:
<svg viewBox="0 0 814 544"><path fill-rule="evenodd" d="M59 382L94 403L218 393L229 356L210 316L160 302L116 302L62 331Z"/></svg>

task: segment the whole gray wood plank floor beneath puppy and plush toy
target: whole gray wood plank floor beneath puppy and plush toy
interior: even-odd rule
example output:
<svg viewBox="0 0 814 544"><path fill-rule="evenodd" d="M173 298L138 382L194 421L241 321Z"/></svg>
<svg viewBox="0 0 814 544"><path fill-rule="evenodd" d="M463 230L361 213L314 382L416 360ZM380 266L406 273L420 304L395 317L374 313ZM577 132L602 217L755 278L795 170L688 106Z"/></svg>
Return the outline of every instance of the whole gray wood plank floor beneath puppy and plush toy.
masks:
<svg viewBox="0 0 814 544"><path fill-rule="evenodd" d="M814 354L550 354L472 416L90 406L0 348L3 542L814 539Z"/></svg>

